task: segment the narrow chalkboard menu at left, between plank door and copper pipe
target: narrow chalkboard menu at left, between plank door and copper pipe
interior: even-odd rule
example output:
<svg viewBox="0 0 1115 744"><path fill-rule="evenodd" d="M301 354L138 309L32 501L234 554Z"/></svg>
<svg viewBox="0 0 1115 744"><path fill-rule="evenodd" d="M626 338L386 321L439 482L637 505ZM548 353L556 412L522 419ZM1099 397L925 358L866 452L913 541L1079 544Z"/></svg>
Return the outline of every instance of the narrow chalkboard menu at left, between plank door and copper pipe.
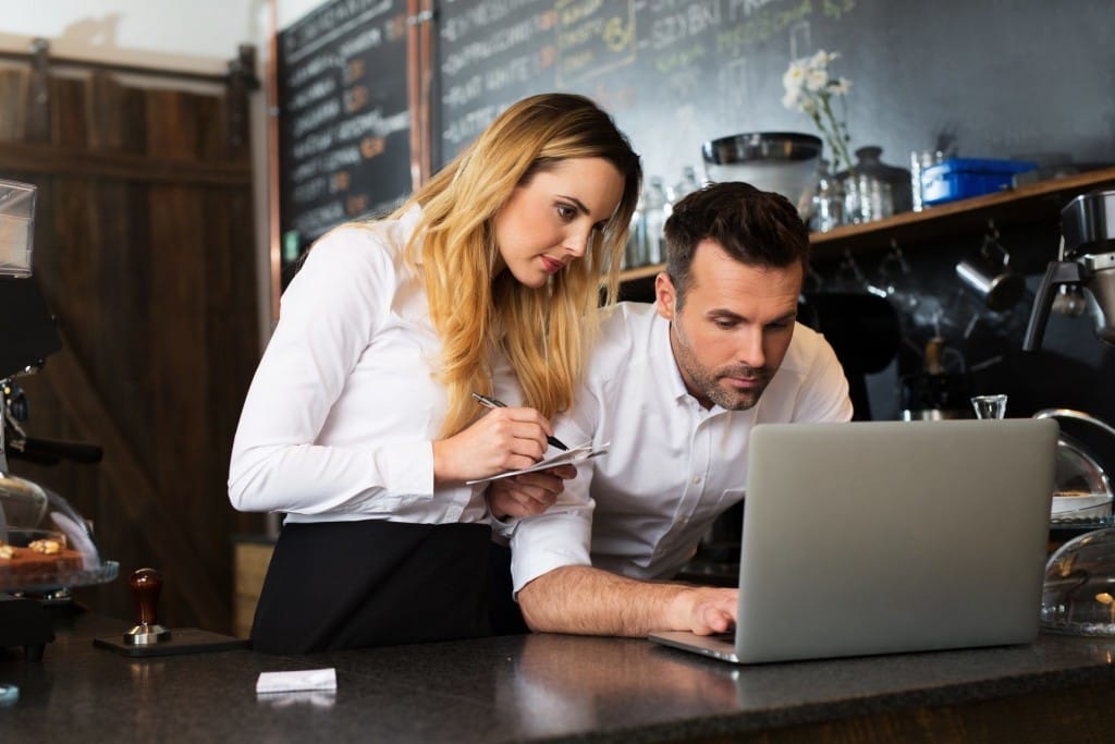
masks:
<svg viewBox="0 0 1115 744"><path fill-rule="evenodd" d="M279 33L283 263L411 191L406 0L336 0Z"/></svg>

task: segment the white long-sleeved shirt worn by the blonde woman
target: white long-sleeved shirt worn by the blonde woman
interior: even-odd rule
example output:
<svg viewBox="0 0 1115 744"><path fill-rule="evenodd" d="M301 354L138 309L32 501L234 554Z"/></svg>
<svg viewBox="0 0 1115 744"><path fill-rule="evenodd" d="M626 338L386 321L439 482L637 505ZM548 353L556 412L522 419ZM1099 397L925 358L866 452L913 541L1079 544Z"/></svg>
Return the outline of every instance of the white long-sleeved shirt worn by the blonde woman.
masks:
<svg viewBox="0 0 1115 744"><path fill-rule="evenodd" d="M419 218L332 231L283 293L233 443L236 509L292 522L487 519L483 486L434 487L442 342L404 261ZM495 395L517 402L510 365L493 367Z"/></svg>

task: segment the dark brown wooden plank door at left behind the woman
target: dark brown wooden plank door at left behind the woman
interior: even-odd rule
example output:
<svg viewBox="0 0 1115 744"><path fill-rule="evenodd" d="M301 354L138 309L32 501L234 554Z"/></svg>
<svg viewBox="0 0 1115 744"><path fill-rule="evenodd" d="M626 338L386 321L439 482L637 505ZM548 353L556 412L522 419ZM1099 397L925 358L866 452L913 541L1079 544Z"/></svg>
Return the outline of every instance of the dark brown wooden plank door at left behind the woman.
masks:
<svg viewBox="0 0 1115 744"><path fill-rule="evenodd" d="M166 578L164 622L231 629L229 452L259 357L251 164L227 103L109 74L51 77L49 141L30 143L28 70L0 69L0 177L40 187L35 281L64 334L17 380L28 432L90 441L97 465L12 462L95 523L112 584L78 590L130 618L128 574Z"/></svg>

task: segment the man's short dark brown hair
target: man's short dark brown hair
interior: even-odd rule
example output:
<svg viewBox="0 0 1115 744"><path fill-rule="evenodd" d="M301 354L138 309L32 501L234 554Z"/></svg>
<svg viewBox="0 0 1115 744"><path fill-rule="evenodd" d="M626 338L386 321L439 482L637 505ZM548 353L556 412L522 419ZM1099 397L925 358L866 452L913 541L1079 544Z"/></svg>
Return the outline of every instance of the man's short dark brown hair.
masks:
<svg viewBox="0 0 1115 744"><path fill-rule="evenodd" d="M785 196L748 183L714 183L673 205L666 221L666 273L681 308L689 289L689 268L702 240L716 242L740 263L808 267L809 231Z"/></svg>

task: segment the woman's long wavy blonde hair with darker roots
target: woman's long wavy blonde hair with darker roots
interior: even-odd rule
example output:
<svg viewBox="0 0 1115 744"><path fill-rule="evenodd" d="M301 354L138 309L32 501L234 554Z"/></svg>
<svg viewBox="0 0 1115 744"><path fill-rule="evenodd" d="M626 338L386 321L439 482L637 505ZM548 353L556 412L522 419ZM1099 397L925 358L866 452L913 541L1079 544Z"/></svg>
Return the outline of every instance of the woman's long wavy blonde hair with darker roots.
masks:
<svg viewBox="0 0 1115 744"><path fill-rule="evenodd" d="M493 276L498 248L493 218L535 174L574 157L600 157L623 177L619 207L584 258L544 286ZM478 409L473 390L492 389L488 363L502 349L526 405L547 418L573 400L595 309L617 298L620 261L642 182L639 156L611 117L571 94L524 98L504 110L392 216L414 204L421 221L407 245L420 267L430 319L442 339L438 378L448 392L442 436L467 427ZM420 252L420 255L419 255ZM419 260L420 259L420 260Z"/></svg>

